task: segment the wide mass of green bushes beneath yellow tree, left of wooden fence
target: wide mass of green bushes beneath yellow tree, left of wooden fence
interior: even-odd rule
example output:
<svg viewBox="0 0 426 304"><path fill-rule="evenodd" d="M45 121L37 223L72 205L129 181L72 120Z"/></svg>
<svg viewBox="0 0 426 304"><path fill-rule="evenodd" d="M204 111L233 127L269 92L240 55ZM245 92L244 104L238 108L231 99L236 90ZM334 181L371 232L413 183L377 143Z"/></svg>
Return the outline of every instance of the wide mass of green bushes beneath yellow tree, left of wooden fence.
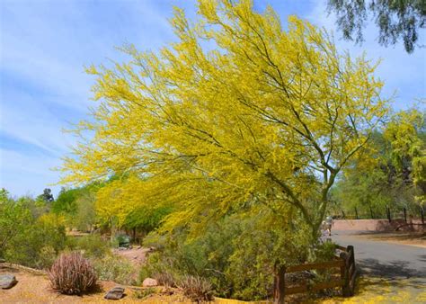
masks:
<svg viewBox="0 0 426 304"><path fill-rule="evenodd" d="M170 237L146 238L145 245L158 251L147 257L140 278L164 277L179 282L185 275L200 276L211 283L217 296L268 299L274 264L305 262L310 234L296 220L288 225L267 212L228 216L210 223L197 237L178 230Z"/></svg>

